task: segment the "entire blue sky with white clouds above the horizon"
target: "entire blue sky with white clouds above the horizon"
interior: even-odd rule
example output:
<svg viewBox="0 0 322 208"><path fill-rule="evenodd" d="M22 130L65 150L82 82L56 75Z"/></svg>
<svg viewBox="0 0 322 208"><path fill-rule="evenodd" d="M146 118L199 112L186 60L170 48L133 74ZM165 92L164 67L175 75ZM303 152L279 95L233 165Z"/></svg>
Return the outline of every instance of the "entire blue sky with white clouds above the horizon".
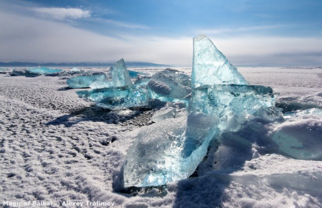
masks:
<svg viewBox="0 0 322 208"><path fill-rule="evenodd" d="M0 0L0 61L322 66L322 0Z"/></svg>

